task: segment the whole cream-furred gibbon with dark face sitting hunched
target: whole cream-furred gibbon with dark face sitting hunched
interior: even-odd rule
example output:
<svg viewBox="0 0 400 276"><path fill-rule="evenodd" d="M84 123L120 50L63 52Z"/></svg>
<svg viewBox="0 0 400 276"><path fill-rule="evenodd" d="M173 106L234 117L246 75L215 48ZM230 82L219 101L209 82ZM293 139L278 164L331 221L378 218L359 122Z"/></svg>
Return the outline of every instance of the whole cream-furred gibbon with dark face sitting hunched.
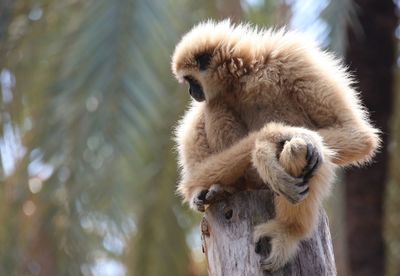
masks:
<svg viewBox="0 0 400 276"><path fill-rule="evenodd" d="M229 20L184 35L172 70L194 99L176 129L178 192L204 211L226 190L267 185L275 217L254 241L271 239L262 269L281 268L315 230L335 168L380 145L351 76L301 34Z"/></svg>

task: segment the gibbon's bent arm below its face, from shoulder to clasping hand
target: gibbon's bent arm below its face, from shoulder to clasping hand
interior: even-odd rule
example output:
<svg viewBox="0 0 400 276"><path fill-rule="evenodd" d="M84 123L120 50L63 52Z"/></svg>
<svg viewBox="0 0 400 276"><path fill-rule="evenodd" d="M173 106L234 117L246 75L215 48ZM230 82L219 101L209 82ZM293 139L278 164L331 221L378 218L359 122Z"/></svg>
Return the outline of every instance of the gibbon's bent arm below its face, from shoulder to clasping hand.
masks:
<svg viewBox="0 0 400 276"><path fill-rule="evenodd" d="M237 142L223 151L212 153L207 139L210 137L206 137L209 132L206 131L204 113L197 110L196 114L198 107L201 106L193 107L181 122L177 131L177 142L182 167L178 192L191 207L200 211L204 204L212 202L212 195L216 193L210 191L215 187L214 184L225 187L232 185L252 164L261 178L277 193L284 194L292 203L301 201L308 193L309 178L323 159L331 154L322 146L321 138L316 132L277 123L268 123L258 132L238 138L239 140L233 139ZM236 129L240 128L238 124L228 124L228 115L227 112L219 114L217 117L224 118L226 123L220 122L214 128L225 133L223 137L227 136L226 133L239 133L238 136L242 137ZM210 119L214 122L216 120L218 118ZM296 137L301 137L308 144L309 150L308 163L300 177L290 175L277 158L283 146L282 144L280 147L280 143ZM214 186L210 189L212 185Z"/></svg>

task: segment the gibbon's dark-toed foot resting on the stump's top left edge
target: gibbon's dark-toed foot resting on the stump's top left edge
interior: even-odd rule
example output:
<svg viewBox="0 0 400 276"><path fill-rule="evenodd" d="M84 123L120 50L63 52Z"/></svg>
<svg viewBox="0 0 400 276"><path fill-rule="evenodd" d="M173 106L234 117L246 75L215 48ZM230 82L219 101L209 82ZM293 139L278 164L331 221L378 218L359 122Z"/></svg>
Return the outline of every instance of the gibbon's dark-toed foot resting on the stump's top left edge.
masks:
<svg viewBox="0 0 400 276"><path fill-rule="evenodd" d="M190 205L199 212L206 210L206 205L226 199L234 191L231 187L222 187L219 184L212 185L209 189L199 189L194 193Z"/></svg>

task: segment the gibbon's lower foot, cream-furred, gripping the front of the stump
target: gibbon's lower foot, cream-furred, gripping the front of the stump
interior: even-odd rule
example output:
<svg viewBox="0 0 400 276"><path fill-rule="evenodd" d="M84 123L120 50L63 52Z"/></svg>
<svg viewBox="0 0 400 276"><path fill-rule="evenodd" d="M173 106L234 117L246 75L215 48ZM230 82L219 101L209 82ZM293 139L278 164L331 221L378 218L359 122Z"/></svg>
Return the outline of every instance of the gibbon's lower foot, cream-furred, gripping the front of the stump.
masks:
<svg viewBox="0 0 400 276"><path fill-rule="evenodd" d="M262 256L260 266L263 270L276 271L282 268L297 251L298 240L283 232L284 229L281 228L274 220L255 227L255 251ZM270 240L271 250L267 255L267 250L262 250L262 248L267 248L265 243L268 240Z"/></svg>

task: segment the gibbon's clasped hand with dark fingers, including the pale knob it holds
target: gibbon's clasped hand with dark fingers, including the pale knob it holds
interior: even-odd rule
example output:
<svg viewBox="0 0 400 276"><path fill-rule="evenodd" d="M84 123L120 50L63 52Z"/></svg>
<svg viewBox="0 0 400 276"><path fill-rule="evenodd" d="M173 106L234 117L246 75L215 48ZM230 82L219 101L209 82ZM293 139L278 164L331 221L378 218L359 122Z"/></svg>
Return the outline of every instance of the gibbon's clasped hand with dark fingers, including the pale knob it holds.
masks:
<svg viewBox="0 0 400 276"><path fill-rule="evenodd" d="M256 141L253 164L272 190L295 204L308 195L309 180L323 162L322 147L314 131L271 123Z"/></svg>

